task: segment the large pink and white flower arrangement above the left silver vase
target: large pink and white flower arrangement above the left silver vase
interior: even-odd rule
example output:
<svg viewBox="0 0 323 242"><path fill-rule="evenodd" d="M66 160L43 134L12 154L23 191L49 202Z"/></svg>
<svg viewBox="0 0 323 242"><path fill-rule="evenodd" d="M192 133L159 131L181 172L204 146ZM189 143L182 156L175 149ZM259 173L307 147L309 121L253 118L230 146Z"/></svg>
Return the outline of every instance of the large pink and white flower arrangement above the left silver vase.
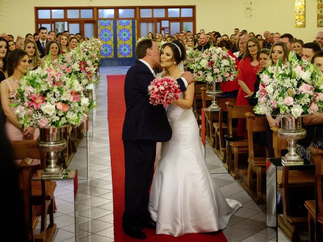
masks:
<svg viewBox="0 0 323 242"><path fill-rule="evenodd" d="M28 71L17 90L16 109L23 127L54 128L78 126L94 105L83 94L84 87L58 66Z"/></svg>

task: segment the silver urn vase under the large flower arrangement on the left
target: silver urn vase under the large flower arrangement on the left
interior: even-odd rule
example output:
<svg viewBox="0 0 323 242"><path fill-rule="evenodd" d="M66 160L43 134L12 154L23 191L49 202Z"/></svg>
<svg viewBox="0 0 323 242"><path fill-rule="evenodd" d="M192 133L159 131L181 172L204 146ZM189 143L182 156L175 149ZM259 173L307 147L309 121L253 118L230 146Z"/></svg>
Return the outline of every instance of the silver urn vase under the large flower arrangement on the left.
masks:
<svg viewBox="0 0 323 242"><path fill-rule="evenodd" d="M42 171L42 178L62 177L62 167L57 164L58 154L66 148L66 140L63 138L63 129L48 128L39 129L40 135L37 147L45 157L45 168Z"/></svg>

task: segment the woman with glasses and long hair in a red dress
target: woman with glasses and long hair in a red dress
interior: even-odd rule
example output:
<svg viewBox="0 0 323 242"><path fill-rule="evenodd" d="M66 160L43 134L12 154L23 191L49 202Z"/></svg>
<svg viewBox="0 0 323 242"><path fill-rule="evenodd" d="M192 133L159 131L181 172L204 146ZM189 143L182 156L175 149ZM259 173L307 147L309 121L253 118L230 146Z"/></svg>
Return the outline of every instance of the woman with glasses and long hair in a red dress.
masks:
<svg viewBox="0 0 323 242"><path fill-rule="evenodd" d="M257 80L260 63L260 43L255 37L247 41L247 48L239 63L238 84L240 86L236 105L249 105L248 99L253 94L254 83ZM248 138L246 130L246 119L241 118L238 122L238 136Z"/></svg>

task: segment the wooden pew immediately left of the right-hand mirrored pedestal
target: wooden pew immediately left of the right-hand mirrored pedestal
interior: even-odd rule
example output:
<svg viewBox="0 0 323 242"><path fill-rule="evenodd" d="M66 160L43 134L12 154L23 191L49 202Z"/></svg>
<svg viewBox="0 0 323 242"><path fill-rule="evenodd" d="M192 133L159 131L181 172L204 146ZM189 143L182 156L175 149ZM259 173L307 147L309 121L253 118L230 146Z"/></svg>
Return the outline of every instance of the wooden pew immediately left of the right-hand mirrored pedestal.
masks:
<svg viewBox="0 0 323 242"><path fill-rule="evenodd" d="M262 180L265 177L266 153L265 148L259 144L253 143L253 134L257 132L265 132L267 119L265 116L255 116L251 112L245 113L247 117L248 132L248 169L241 170L243 181L242 187L249 193L253 200L257 203L263 203L264 194L261 191ZM263 150L262 156L255 156L260 150ZM264 176L262 176L264 174ZM254 175L256 176L256 188L253 186ZM264 180L263 180L264 181Z"/></svg>

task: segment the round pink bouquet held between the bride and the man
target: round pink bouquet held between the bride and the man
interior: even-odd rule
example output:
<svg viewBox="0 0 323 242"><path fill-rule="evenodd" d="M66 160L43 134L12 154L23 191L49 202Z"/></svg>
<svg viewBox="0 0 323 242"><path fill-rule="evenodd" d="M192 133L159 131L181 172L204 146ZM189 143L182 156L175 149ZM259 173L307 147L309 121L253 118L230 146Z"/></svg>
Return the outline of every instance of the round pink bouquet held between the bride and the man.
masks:
<svg viewBox="0 0 323 242"><path fill-rule="evenodd" d="M181 94L179 85L171 77L155 78L148 86L149 100L152 105L163 104L164 107L177 100Z"/></svg>

